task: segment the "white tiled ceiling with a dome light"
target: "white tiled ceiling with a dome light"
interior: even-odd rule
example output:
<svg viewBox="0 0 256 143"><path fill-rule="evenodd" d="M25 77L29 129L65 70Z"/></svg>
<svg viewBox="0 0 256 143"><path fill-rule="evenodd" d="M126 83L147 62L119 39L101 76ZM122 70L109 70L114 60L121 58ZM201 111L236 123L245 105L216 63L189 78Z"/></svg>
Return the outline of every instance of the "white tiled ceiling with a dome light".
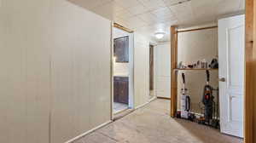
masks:
<svg viewBox="0 0 256 143"><path fill-rule="evenodd" d="M213 23L226 14L241 12L245 0L69 0L122 26L154 38L170 26ZM180 3L183 2L183 3Z"/></svg>

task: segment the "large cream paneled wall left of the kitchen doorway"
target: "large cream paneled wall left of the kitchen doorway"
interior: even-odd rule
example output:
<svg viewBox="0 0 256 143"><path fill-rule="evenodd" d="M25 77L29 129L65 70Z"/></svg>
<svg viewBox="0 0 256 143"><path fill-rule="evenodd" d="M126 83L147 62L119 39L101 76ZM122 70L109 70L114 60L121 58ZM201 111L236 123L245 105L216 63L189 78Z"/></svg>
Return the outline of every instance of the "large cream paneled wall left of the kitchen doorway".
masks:
<svg viewBox="0 0 256 143"><path fill-rule="evenodd" d="M0 142L63 143L108 122L110 36L66 0L2 0Z"/></svg>

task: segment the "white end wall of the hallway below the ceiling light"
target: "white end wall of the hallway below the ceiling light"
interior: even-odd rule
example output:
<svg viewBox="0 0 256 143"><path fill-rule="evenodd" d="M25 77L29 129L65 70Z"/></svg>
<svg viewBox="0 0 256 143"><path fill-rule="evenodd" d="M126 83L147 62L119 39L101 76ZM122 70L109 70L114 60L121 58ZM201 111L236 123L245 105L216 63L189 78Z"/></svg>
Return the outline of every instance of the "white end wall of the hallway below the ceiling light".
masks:
<svg viewBox="0 0 256 143"><path fill-rule="evenodd" d="M154 51L155 94L157 97L171 98L171 43L158 43Z"/></svg>

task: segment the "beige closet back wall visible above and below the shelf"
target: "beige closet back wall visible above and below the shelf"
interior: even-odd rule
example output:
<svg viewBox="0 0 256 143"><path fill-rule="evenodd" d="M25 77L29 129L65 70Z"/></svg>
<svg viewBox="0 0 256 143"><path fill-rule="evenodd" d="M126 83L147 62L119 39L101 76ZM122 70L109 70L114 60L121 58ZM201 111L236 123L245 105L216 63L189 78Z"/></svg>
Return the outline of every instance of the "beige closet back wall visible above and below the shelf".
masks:
<svg viewBox="0 0 256 143"><path fill-rule="evenodd" d="M202 31L189 31L178 33L177 61L191 64L197 60L206 59L211 62L212 58L218 57L218 29L208 29ZM180 89L183 87L181 73L177 77L178 109ZM206 72L184 72L186 75L186 85L191 96L192 110L201 112L198 103L201 102L203 87L206 84ZM218 87L218 71L211 71L210 84L213 88ZM216 94L216 93L214 93Z"/></svg>

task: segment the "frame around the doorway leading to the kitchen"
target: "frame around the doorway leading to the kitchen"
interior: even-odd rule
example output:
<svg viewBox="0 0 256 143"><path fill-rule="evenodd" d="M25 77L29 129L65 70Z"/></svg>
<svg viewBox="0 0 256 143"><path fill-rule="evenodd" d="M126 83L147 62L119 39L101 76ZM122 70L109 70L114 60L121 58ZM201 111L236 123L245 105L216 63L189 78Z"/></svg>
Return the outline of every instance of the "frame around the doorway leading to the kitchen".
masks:
<svg viewBox="0 0 256 143"><path fill-rule="evenodd" d="M113 40L117 37L114 37L114 28L117 28L125 32L125 35L120 37L129 37L129 104L128 108L134 109L134 32L120 26L119 24L112 22L111 27L111 120L113 120Z"/></svg>

